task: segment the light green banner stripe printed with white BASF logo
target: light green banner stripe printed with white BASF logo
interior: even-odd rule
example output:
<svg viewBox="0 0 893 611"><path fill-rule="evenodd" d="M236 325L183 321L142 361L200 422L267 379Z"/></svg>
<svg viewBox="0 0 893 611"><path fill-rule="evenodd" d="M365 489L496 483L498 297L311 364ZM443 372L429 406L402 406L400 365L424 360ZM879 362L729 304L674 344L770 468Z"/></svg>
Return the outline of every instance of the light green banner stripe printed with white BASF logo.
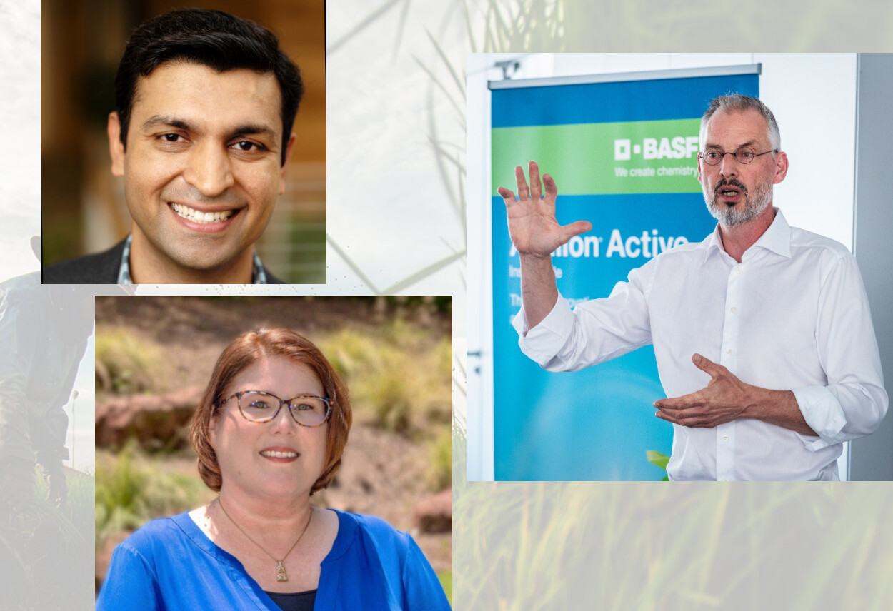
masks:
<svg viewBox="0 0 893 611"><path fill-rule="evenodd" d="M530 160L559 194L700 193L699 128L699 119L495 128L493 194L517 192L514 167Z"/></svg>

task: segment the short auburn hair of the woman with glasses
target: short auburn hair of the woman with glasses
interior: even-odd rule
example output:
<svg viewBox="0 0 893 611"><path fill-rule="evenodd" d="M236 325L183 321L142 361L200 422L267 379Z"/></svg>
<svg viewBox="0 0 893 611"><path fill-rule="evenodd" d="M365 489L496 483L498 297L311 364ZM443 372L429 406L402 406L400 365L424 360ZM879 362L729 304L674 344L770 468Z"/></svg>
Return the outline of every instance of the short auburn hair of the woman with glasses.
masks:
<svg viewBox="0 0 893 611"><path fill-rule="evenodd" d="M319 376L324 394L329 397L329 434L326 439L326 463L322 475L313 483L311 494L329 485L350 433L351 410L347 387L319 348L303 335L290 329L259 329L239 335L223 349L214 365L211 381L189 425L189 439L198 455L198 474L213 491L221 489L221 469L211 444L211 417L220 406L233 378L264 357L280 356L313 369Z"/></svg>

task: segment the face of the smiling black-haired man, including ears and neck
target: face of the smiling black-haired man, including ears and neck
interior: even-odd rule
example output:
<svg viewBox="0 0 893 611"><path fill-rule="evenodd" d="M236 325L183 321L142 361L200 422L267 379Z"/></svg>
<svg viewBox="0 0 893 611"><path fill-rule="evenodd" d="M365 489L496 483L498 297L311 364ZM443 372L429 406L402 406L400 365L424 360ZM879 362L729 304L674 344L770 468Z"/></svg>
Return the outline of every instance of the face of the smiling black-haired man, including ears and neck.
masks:
<svg viewBox="0 0 893 611"><path fill-rule="evenodd" d="M109 118L135 283L251 281L254 244L285 191L280 105L272 73L169 62L138 79L126 151Z"/></svg>

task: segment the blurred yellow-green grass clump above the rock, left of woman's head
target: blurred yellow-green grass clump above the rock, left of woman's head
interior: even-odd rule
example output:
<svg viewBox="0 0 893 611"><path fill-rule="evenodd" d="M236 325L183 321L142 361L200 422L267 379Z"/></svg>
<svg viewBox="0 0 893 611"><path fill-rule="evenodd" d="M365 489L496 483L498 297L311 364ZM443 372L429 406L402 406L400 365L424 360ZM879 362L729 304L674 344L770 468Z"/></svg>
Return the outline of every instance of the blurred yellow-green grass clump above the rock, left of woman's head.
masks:
<svg viewBox="0 0 893 611"><path fill-rule="evenodd" d="M123 328L96 334L96 390L134 394L162 390L162 350Z"/></svg>

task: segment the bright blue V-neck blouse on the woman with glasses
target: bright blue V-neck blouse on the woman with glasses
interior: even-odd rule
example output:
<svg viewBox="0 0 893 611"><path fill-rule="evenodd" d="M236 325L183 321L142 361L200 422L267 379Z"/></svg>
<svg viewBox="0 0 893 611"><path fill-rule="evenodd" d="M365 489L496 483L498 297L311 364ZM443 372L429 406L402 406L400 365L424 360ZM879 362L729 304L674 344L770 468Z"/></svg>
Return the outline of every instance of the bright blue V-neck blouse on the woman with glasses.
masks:
<svg viewBox="0 0 893 611"><path fill-rule="evenodd" d="M316 609L449 609L413 538L373 516L338 514L321 563ZM96 611L280 611L242 563L217 547L188 513L149 522L115 548Z"/></svg>

